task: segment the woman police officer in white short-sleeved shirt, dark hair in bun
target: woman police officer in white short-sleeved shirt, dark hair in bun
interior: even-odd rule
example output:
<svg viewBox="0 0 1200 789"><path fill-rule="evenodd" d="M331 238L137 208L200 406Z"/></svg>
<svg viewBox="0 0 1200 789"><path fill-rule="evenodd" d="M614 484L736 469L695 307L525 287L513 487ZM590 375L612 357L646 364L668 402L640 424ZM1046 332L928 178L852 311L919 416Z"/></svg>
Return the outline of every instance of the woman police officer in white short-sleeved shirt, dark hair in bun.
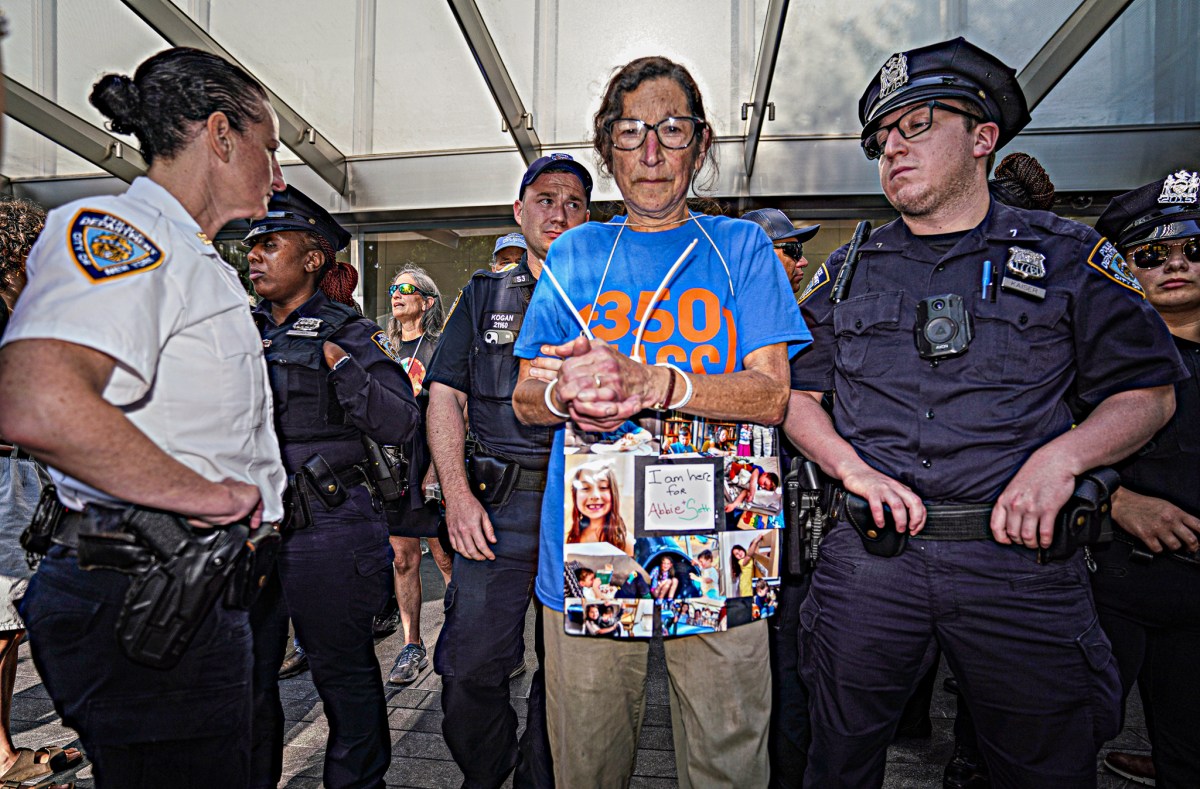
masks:
<svg viewBox="0 0 1200 789"><path fill-rule="evenodd" d="M50 466L67 507L20 612L97 788L244 787L246 612L218 600L178 664L146 665L116 634L130 574L83 570L76 548L127 535L131 505L206 535L283 514L258 331L209 240L283 188L278 121L247 73L194 49L102 77L91 102L150 170L50 213L4 337L0 433Z"/></svg>

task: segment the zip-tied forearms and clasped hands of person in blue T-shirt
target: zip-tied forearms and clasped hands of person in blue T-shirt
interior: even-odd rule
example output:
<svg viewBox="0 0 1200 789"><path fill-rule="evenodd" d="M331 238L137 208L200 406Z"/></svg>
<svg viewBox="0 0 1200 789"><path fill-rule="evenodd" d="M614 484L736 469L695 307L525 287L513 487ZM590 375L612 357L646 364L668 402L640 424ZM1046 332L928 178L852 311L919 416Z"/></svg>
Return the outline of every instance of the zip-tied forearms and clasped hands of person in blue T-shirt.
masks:
<svg viewBox="0 0 1200 789"><path fill-rule="evenodd" d="M679 373L637 362L602 341L580 337L564 345L546 347L542 353L565 360L552 392L554 405L586 430L614 429L638 411L660 403L671 377L676 379L672 400L678 402L686 389ZM737 373L688 373L692 397L682 410L709 418L781 422L787 408L787 347L776 343L754 350L746 354L743 367ZM545 386L535 379L530 362L522 360L512 406L526 424L563 421L546 409Z"/></svg>

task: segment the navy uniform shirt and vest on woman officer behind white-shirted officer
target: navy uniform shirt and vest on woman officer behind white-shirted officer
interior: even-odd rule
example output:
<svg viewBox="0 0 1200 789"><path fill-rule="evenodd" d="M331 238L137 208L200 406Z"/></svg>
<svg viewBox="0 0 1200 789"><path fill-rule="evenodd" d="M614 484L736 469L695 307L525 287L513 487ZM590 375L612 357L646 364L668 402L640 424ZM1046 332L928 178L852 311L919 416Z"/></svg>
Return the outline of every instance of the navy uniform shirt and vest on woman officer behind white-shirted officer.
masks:
<svg viewBox="0 0 1200 789"><path fill-rule="evenodd" d="M413 436L420 424L413 386L379 326L320 290L282 324L275 323L265 300L254 308L254 320L289 474L318 452L334 469L360 462L360 433L384 445L402 445ZM326 341L350 356L336 371L325 365Z"/></svg>

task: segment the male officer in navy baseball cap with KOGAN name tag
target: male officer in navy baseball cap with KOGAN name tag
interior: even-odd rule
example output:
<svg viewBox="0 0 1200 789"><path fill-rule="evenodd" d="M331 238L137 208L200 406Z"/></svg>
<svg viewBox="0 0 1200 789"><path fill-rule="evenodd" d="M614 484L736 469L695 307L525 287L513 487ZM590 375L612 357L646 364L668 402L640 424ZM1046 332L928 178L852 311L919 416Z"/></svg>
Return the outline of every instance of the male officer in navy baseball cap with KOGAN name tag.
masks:
<svg viewBox="0 0 1200 789"><path fill-rule="evenodd" d="M509 675L524 661L551 445L548 428L521 424L512 412L518 371L512 345L550 245L587 222L590 197L592 176L569 155L552 153L529 165L512 206L527 253L515 269L475 272L451 308L426 379L428 442L457 552L433 668L442 675L442 731L464 787L499 787L515 766L517 787L553 784L540 665L520 765L509 703ZM469 470L464 408L474 441ZM508 487L497 484L499 478Z"/></svg>

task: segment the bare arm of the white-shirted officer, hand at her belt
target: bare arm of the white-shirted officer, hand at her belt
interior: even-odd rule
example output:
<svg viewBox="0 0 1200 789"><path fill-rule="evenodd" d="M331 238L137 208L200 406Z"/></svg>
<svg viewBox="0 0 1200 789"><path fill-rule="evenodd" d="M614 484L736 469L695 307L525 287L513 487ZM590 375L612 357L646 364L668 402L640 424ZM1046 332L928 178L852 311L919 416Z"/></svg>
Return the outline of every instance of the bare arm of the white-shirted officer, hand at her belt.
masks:
<svg viewBox="0 0 1200 789"><path fill-rule="evenodd" d="M74 343L24 339L0 351L0 433L98 490L208 524L260 511L258 488L209 482L163 452L102 398L112 357Z"/></svg>

